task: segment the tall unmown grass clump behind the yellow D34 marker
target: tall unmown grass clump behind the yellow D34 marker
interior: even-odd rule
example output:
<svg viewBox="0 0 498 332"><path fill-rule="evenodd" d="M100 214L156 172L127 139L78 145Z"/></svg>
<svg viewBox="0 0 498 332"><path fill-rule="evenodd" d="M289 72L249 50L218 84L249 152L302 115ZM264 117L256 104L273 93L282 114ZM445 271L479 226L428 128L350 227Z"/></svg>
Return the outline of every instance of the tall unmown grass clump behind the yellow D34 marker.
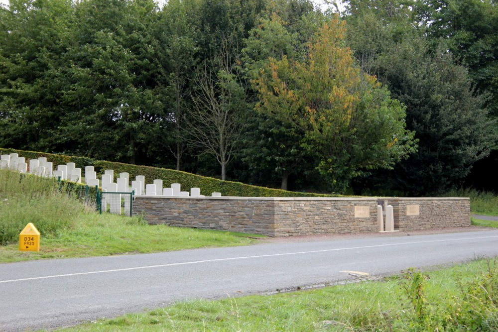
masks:
<svg viewBox="0 0 498 332"><path fill-rule="evenodd" d="M28 222L42 235L71 229L84 210L67 185L55 179L0 170L0 245L16 242Z"/></svg>

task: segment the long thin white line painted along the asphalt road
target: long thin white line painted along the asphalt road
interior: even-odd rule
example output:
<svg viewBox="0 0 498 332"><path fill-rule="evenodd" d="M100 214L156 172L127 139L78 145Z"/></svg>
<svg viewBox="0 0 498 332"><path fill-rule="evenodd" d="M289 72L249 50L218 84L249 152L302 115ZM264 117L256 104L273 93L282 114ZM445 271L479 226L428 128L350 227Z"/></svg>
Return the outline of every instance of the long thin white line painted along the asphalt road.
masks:
<svg viewBox="0 0 498 332"><path fill-rule="evenodd" d="M389 246L406 245L406 244L449 242L449 241L462 241L462 240L475 240L475 239L481 239L481 238L494 238L494 237L498 237L498 235L494 235L494 236L480 236L480 237L452 238L452 239L445 239L445 240L430 240L430 241L414 241L414 242L376 244L376 245L366 245L366 246L361 246L361 247L348 247L348 248L323 249L323 250L311 250L311 251L299 251L299 252L286 252L286 253L268 254L268 255L255 255L255 256L242 256L242 257L230 257L230 258L205 259L205 260L196 260L196 261L191 261L191 262L180 262L180 263L170 263L170 264L160 264L160 265L147 265L147 266L128 267L128 268L124 268L124 269L100 270L100 271L91 271L91 272L57 274L57 275L44 276L44 277L32 277L32 278L3 280L3 281L0 281L0 284L7 283L7 282L16 282L16 281L50 279L50 278L62 278L62 277L72 277L72 276L80 276L80 275L86 275L86 274L111 273L111 272L121 272L121 271L131 271L131 270L141 270L141 269L152 269L152 268L158 268L158 267L169 267L169 266L178 266L178 265L191 265L191 264L201 264L201 263L208 263L208 262L220 262L220 261L228 261L228 260L251 259L251 258L262 258L262 257L276 257L276 256L288 256L288 255L302 255L302 254L310 254L310 253L317 253L317 252L357 250L357 249L389 247Z"/></svg>

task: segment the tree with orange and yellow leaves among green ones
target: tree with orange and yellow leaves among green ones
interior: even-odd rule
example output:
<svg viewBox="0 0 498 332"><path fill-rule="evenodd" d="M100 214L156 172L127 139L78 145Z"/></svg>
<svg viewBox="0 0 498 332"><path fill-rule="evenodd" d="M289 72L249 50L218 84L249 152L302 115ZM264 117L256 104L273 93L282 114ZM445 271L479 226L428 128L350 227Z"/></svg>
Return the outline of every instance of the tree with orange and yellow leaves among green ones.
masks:
<svg viewBox="0 0 498 332"><path fill-rule="evenodd" d="M368 170L392 168L416 151L405 109L376 78L361 73L335 17L311 38L304 56L268 58L251 81L255 110L304 132L301 146L320 156L330 189L346 193Z"/></svg>

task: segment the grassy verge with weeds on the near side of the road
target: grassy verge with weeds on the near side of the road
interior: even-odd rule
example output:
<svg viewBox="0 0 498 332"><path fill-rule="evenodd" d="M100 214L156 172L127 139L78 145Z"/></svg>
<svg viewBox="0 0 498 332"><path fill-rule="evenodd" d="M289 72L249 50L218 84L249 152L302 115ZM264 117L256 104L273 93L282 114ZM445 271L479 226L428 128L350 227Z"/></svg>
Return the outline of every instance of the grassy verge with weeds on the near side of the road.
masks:
<svg viewBox="0 0 498 332"><path fill-rule="evenodd" d="M498 331L498 266L473 261L428 273L323 289L196 300L60 331Z"/></svg>

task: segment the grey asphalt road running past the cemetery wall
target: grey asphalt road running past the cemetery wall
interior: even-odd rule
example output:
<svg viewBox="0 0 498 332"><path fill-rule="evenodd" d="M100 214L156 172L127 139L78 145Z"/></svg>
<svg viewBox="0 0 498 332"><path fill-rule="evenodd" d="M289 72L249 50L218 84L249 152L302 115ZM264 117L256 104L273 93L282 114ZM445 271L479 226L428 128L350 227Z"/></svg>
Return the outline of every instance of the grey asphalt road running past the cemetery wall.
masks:
<svg viewBox="0 0 498 332"><path fill-rule="evenodd" d="M0 264L0 331L498 256L498 229Z"/></svg>

